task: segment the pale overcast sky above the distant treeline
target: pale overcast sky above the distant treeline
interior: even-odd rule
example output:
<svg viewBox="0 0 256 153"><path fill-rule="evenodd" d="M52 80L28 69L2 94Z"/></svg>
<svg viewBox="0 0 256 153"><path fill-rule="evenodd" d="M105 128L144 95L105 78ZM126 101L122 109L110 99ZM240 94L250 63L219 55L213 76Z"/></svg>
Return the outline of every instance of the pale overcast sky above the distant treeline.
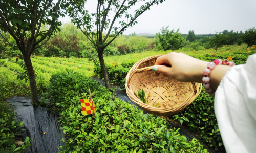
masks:
<svg viewBox="0 0 256 153"><path fill-rule="evenodd" d="M142 4L143 1L137 7ZM95 12L96 7L96 0L88 0L86 9L89 12ZM182 34L187 34L189 30L194 30L195 34L214 34L223 30L244 32L256 26L255 8L255 0L166 0L140 15L138 24L127 28L124 34L155 34L166 26L175 31L179 28ZM67 23L71 19L66 16L60 21Z"/></svg>

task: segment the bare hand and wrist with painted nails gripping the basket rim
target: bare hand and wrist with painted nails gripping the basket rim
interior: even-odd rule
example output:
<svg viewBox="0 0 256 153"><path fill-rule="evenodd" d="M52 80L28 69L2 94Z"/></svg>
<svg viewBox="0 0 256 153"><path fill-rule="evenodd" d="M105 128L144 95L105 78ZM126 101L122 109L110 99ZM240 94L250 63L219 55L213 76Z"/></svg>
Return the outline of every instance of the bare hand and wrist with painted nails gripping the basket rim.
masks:
<svg viewBox="0 0 256 153"><path fill-rule="evenodd" d="M171 52L157 58L153 71L168 75L177 81L203 83L203 70L207 68L208 62L193 58L183 53ZM222 77L231 67L218 65L211 71L210 84L216 90ZM159 75L159 74L157 74Z"/></svg>

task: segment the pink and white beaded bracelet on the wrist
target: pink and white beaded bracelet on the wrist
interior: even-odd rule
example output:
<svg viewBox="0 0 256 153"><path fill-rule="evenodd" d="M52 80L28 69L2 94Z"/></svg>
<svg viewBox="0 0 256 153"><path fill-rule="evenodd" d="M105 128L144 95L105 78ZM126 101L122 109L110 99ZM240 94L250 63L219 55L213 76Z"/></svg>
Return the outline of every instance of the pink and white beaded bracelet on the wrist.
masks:
<svg viewBox="0 0 256 153"><path fill-rule="evenodd" d="M227 59L225 60L221 60L221 59L215 59L214 62L209 62L207 64L207 68L204 69L204 77L203 77L203 87L206 91L206 93L208 93L210 96L214 97L215 96L215 91L210 87L210 78L208 77L208 75L210 75L210 71L213 70L215 68L215 65L229 65L231 67L233 67L234 62L232 61L228 61Z"/></svg>

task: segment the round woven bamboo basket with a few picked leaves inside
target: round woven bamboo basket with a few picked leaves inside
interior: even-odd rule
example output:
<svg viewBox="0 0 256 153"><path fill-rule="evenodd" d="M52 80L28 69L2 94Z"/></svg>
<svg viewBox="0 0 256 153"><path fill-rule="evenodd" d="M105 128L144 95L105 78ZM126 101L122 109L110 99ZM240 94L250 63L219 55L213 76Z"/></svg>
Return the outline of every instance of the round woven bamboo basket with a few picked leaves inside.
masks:
<svg viewBox="0 0 256 153"><path fill-rule="evenodd" d="M182 111L191 104L200 94L202 84L180 82L163 74L156 76L151 67L155 65L159 56L162 55L146 57L135 63L126 76L125 88L129 98L142 110L157 116L168 116ZM150 93L147 104L134 94L141 89L145 95ZM158 106L153 107L158 102Z"/></svg>

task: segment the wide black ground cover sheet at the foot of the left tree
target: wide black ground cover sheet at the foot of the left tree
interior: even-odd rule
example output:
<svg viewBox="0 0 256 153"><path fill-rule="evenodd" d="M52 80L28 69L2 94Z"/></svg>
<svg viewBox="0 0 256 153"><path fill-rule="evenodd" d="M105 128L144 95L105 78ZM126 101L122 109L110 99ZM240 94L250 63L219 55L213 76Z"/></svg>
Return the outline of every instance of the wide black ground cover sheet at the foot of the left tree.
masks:
<svg viewBox="0 0 256 153"><path fill-rule="evenodd" d="M25 131L16 139L25 141L26 136L33 139L32 146L27 148L28 153L55 153L59 152L59 146L65 145L60 141L65 136L59 129L60 123L56 113L47 108L32 106L29 97L16 96L5 101L13 104L11 108L16 112L16 120L24 121L21 129Z"/></svg>

